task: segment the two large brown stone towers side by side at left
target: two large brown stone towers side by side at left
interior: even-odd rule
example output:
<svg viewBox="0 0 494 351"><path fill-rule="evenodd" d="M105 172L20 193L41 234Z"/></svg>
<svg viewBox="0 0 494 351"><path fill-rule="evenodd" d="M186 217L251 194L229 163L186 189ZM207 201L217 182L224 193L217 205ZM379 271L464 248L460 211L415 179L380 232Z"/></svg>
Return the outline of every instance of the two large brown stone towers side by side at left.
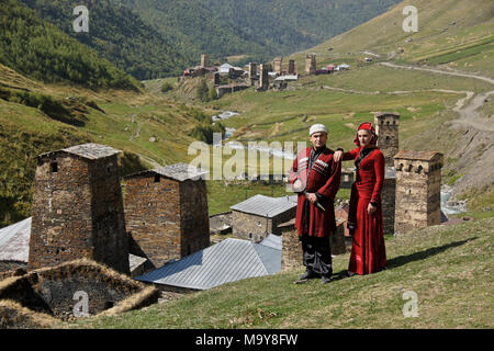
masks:
<svg viewBox="0 0 494 351"><path fill-rule="evenodd" d="M177 163L127 176L124 210L119 152L83 144L37 157L31 269L89 258L128 273L128 253L156 267L210 245L203 171Z"/></svg>

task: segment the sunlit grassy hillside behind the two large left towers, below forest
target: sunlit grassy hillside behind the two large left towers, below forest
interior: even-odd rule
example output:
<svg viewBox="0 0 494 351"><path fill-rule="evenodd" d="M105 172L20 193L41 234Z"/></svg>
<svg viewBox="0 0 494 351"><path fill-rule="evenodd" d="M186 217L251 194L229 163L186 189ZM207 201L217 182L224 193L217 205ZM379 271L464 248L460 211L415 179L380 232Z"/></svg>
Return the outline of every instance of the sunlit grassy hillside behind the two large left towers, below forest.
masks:
<svg viewBox="0 0 494 351"><path fill-rule="evenodd" d="M123 174L184 161L195 114L151 94L45 84L0 65L0 227L31 215L37 155L105 144L124 151Z"/></svg>

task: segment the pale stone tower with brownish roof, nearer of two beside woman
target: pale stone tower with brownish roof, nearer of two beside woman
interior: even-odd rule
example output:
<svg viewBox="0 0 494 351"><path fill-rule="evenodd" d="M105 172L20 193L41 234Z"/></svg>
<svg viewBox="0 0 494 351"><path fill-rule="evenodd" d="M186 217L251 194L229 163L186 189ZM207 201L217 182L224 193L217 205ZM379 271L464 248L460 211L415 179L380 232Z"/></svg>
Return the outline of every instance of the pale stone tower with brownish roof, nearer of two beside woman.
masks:
<svg viewBox="0 0 494 351"><path fill-rule="evenodd" d="M401 150L396 169L395 234L441 223L442 154Z"/></svg>

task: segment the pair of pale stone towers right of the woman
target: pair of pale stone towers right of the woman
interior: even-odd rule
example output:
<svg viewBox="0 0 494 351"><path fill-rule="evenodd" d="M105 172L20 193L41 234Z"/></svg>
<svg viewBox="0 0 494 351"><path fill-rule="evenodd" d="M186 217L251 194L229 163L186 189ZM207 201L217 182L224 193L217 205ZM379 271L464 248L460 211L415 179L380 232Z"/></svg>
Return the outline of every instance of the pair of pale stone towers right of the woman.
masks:
<svg viewBox="0 0 494 351"><path fill-rule="evenodd" d="M398 149L400 115L377 113L378 147L385 159L384 233L404 234L441 223L442 154Z"/></svg>

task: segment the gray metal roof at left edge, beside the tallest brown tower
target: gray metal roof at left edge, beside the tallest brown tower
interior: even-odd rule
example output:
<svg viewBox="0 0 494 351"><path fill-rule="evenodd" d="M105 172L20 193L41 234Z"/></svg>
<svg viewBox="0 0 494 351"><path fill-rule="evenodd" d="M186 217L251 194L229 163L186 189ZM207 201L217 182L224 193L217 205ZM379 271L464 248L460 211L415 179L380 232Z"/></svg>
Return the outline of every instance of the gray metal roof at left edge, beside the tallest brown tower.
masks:
<svg viewBox="0 0 494 351"><path fill-rule="evenodd" d="M31 217L0 229L0 261L27 262Z"/></svg>

